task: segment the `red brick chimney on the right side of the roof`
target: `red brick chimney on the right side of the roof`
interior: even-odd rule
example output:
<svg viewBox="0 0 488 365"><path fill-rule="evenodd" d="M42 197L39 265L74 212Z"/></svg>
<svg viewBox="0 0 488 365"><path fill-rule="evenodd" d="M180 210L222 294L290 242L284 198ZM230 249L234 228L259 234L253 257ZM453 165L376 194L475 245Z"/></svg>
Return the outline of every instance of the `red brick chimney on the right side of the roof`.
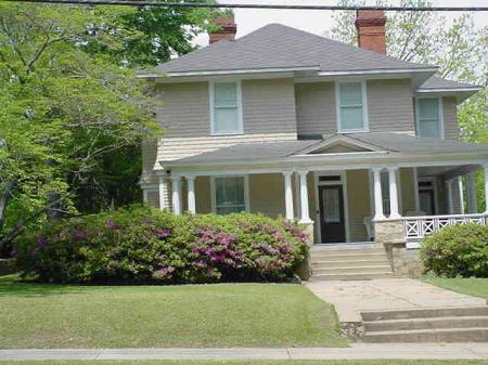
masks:
<svg viewBox="0 0 488 365"><path fill-rule="evenodd" d="M383 10L358 10L355 24L360 48L386 54L386 16Z"/></svg>

